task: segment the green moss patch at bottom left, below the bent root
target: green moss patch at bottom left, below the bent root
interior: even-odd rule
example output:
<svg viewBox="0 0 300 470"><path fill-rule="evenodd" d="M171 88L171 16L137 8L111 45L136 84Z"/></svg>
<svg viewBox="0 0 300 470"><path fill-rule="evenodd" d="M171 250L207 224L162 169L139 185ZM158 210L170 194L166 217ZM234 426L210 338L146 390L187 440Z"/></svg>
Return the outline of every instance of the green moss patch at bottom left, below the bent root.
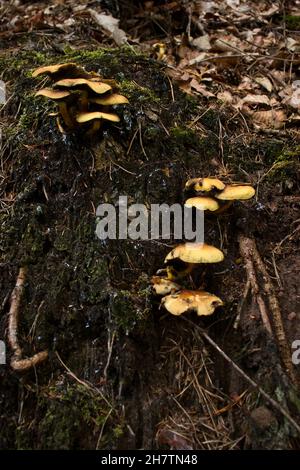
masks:
<svg viewBox="0 0 300 470"><path fill-rule="evenodd" d="M42 443L38 438L28 439L31 424L27 423L16 429L18 449L28 449L29 442L34 442L34 449L72 450L78 448L95 449L107 445L110 439L116 438L115 430L121 432L117 414L102 395L81 384L57 384L47 388L45 395L40 395L36 408L37 435L43 436ZM103 434L99 443L101 428L112 424L111 435ZM115 426L113 426L115 422ZM29 441L29 442L28 442ZM89 444L87 444L89 443Z"/></svg>

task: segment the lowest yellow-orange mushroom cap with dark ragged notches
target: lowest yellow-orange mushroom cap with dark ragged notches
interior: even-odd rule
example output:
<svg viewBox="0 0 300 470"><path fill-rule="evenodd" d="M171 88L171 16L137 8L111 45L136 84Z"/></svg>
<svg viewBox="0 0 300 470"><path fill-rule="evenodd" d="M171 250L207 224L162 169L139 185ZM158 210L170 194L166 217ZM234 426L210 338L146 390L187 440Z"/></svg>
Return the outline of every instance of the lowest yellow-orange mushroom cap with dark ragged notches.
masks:
<svg viewBox="0 0 300 470"><path fill-rule="evenodd" d="M194 310L198 316L202 316L211 315L217 307L223 305L223 302L209 292L182 290L163 297L161 304L172 315L179 316L188 310Z"/></svg>

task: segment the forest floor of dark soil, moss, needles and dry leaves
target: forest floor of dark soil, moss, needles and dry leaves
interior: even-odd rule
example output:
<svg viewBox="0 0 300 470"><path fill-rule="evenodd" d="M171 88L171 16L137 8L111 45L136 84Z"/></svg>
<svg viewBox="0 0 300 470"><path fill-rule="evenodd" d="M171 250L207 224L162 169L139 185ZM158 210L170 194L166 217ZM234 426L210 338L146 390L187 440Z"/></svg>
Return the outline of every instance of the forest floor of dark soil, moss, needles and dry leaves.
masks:
<svg viewBox="0 0 300 470"><path fill-rule="evenodd" d="M0 13L0 448L300 448L300 2ZM129 99L98 139L62 134L34 97L33 70L63 62ZM183 204L185 182L209 175L256 196L205 218L225 260L183 281L224 306L175 317L150 282L172 240L100 242L95 210L120 195ZM11 367L14 305L22 357L47 351L26 371Z"/></svg>

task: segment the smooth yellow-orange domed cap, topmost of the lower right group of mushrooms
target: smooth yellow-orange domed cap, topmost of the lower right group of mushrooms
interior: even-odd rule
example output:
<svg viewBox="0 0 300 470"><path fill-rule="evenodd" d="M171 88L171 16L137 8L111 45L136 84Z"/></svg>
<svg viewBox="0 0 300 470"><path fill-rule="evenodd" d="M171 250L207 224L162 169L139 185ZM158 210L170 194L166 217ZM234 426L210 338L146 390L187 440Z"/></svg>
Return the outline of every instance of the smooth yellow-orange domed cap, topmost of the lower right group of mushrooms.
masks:
<svg viewBox="0 0 300 470"><path fill-rule="evenodd" d="M219 263L223 261L224 254L218 248L205 243L183 243L170 251L165 263L176 258L186 263Z"/></svg>

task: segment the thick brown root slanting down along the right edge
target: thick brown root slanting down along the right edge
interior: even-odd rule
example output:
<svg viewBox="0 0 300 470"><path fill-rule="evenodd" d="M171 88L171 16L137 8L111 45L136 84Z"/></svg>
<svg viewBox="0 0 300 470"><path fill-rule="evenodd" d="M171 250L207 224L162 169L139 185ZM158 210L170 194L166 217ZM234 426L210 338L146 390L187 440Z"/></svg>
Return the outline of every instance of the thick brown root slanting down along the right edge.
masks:
<svg viewBox="0 0 300 470"><path fill-rule="evenodd" d="M255 240L240 234L239 246L262 322L270 335L273 335L274 332L282 364L290 380L296 385L298 380L291 359L291 351L286 338L279 303L270 276L257 250Z"/></svg>

